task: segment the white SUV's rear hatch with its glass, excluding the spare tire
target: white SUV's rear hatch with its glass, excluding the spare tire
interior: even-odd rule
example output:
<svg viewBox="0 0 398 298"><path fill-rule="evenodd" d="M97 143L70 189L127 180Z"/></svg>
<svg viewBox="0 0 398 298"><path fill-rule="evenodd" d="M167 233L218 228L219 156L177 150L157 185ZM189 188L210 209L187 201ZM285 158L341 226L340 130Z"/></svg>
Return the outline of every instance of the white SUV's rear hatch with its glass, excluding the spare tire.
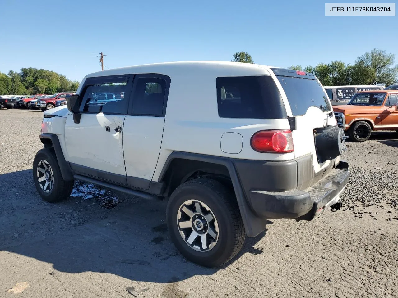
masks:
<svg viewBox="0 0 398 298"><path fill-rule="evenodd" d="M290 106L289 116L295 121L296 129L292 131L295 159L312 155L315 176L319 173L325 174L325 170L328 172L332 169L334 160L318 162L314 129L328 125L336 126L336 120L324 88L313 74L281 68L271 68L271 70L287 97L287 102L286 99L284 101L285 105L288 103ZM305 170L310 175L308 166ZM306 178L312 179L310 176Z"/></svg>

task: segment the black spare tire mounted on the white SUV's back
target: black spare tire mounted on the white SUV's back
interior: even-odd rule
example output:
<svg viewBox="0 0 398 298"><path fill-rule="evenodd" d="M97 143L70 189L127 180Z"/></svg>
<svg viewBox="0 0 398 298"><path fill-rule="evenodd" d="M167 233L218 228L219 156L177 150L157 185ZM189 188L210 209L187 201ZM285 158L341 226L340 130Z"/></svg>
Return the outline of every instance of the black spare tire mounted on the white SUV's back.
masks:
<svg viewBox="0 0 398 298"><path fill-rule="evenodd" d="M345 139L344 131L337 126L315 128L315 148L319 163L335 159L343 153Z"/></svg>

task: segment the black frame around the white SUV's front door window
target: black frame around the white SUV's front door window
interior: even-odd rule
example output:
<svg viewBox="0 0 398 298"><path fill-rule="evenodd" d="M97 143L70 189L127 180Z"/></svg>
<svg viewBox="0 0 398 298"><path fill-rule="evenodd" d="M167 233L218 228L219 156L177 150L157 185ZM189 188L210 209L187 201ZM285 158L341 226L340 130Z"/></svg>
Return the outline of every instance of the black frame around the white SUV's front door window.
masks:
<svg viewBox="0 0 398 298"><path fill-rule="evenodd" d="M129 107L131 104L131 87L133 85L133 80L134 80L134 74L122 74L122 75L104 75L100 77L88 77L86 78L86 81L84 82L84 86L82 88L82 92L79 94L80 98L80 114L104 114L104 115L127 115L129 111ZM86 94L87 88L90 86L93 86L94 84L98 83L117 83L120 81L122 77L127 77L127 82L126 82L126 91L123 96L124 98L127 98L128 104L127 104L127 109L125 110L124 113L108 113L108 112L84 112L84 103L83 103L83 98L84 95ZM105 92L105 94L108 92ZM105 96L106 97L106 96Z"/></svg>

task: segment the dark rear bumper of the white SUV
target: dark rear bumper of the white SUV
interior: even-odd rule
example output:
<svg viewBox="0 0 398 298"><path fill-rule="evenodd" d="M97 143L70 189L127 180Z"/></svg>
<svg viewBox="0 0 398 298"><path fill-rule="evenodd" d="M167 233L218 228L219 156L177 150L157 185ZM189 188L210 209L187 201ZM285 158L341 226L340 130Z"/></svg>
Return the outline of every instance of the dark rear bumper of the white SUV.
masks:
<svg viewBox="0 0 398 298"><path fill-rule="evenodd" d="M302 219L311 221L339 200L348 183L348 163L340 163L304 190L288 191L250 190L247 199L258 217L267 219Z"/></svg>

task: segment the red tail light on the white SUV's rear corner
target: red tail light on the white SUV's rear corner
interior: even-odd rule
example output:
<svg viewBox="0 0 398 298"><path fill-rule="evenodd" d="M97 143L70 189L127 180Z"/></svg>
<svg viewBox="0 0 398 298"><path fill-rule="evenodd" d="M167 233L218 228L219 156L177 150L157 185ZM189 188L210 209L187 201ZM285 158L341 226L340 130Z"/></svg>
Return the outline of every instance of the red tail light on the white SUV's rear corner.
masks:
<svg viewBox="0 0 398 298"><path fill-rule="evenodd" d="M294 150L290 130L261 130L252 136L250 144L258 152L288 153Z"/></svg>

